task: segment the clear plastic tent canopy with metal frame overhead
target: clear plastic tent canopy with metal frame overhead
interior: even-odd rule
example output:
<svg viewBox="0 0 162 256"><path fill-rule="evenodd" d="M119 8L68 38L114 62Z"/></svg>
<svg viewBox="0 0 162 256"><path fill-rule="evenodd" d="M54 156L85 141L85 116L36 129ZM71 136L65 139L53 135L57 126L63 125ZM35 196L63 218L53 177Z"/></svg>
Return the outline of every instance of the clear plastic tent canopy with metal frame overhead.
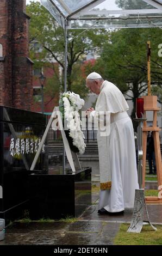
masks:
<svg viewBox="0 0 162 256"><path fill-rule="evenodd" d="M162 0L41 0L60 26L162 28Z"/></svg>

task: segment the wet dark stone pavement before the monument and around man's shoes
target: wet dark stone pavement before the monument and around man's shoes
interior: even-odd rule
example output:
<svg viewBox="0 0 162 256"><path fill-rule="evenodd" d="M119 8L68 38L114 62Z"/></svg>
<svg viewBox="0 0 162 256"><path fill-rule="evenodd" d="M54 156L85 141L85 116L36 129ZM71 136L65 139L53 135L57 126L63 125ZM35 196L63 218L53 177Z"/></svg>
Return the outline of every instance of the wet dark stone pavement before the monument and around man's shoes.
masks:
<svg viewBox="0 0 162 256"><path fill-rule="evenodd" d="M132 210L117 216L98 215L98 197L98 192L92 193L93 204L73 223L15 222L6 228L0 245L113 245L121 223L130 223ZM147 209L151 221L162 224L162 205L147 205Z"/></svg>

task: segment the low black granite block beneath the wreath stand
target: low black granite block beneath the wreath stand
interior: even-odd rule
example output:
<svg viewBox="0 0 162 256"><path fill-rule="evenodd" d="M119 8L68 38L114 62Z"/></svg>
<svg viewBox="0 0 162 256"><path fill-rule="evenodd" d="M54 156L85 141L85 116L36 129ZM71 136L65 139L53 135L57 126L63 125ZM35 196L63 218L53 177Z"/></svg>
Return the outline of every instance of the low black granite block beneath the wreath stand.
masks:
<svg viewBox="0 0 162 256"><path fill-rule="evenodd" d="M72 173L55 168L46 174L33 174L30 183L30 218L78 217L91 205L91 168Z"/></svg>

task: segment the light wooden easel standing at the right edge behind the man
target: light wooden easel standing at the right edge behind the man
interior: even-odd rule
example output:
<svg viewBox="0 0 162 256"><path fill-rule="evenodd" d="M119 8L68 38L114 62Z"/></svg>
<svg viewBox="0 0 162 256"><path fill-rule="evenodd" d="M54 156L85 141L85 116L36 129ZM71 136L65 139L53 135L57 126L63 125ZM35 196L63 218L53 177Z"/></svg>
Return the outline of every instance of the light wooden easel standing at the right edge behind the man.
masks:
<svg viewBox="0 0 162 256"><path fill-rule="evenodd" d="M157 96L151 95L151 67L150 67L150 56L151 48L150 42L147 42L147 76L148 76L148 96L144 96L144 117L146 118L147 111L153 111L153 126L148 127L147 121L144 121L144 127L142 129L142 148L143 148L143 161L142 161L142 186L145 188L145 174L146 174L146 150L147 150L147 133L148 131L153 132L154 139L154 150L155 150L155 163L157 167L157 178L158 187L162 185L162 163L161 163L161 151L160 151L160 138L159 131L161 130L157 127L157 112L160 108L157 106ZM162 198L158 197L146 197L146 203L162 203Z"/></svg>

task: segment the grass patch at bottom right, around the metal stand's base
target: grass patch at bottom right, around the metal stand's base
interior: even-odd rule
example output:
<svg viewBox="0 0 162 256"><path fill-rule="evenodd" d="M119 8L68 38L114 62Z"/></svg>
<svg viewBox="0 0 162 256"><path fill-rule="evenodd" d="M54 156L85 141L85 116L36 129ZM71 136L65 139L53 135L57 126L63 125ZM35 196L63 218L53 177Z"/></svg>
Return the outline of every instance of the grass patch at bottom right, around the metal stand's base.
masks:
<svg viewBox="0 0 162 256"><path fill-rule="evenodd" d="M143 225L141 233L128 233L129 224L121 224L114 245L162 245L162 225L156 225L157 231L150 225Z"/></svg>

